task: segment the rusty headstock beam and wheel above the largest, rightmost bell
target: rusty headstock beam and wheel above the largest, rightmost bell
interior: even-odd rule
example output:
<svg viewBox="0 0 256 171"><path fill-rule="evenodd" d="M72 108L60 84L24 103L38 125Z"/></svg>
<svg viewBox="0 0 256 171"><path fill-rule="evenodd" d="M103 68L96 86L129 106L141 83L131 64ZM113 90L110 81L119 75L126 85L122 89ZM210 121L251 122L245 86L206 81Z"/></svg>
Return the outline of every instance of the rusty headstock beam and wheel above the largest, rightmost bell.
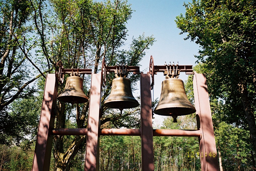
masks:
<svg viewBox="0 0 256 171"><path fill-rule="evenodd" d="M180 75L180 72L186 72L186 74L194 74L194 71L192 69L193 65L179 65L178 63L175 65L174 62L169 65L154 65L154 59L153 56L150 56L150 62L149 62L149 74L152 78L151 83L151 90L154 87L154 75L157 74L157 72L164 72L164 75L166 78L178 78Z"/></svg>

